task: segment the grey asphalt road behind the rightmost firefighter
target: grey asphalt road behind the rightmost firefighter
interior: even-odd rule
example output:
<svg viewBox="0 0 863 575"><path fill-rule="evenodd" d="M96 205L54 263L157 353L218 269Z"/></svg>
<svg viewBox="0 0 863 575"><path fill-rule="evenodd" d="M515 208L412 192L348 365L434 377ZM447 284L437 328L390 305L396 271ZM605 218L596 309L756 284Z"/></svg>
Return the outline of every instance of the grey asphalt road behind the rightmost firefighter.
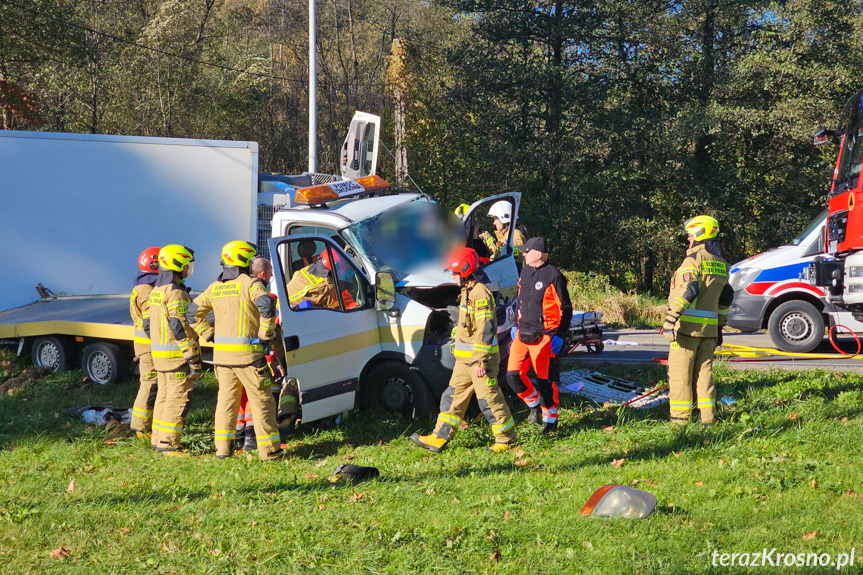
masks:
<svg viewBox="0 0 863 575"><path fill-rule="evenodd" d="M606 343L605 349L600 353L588 353L584 347L579 347L563 361L597 365L603 363L651 363L654 358L668 357L668 342L665 341L662 334L656 331L605 330L602 339L606 342L613 340L618 343L615 345ZM775 348L773 342L770 341L770 336L764 332L726 333L723 335L723 340L725 344ZM637 345L622 345L626 342ZM854 352L857 348L856 342L849 336L840 338L838 344L841 349L847 352ZM821 345L812 353L838 355L827 338L824 338ZM773 356L763 360L759 358L757 361L750 358L731 358L722 361L733 369L828 369L863 373L863 354L855 359L803 359Z"/></svg>

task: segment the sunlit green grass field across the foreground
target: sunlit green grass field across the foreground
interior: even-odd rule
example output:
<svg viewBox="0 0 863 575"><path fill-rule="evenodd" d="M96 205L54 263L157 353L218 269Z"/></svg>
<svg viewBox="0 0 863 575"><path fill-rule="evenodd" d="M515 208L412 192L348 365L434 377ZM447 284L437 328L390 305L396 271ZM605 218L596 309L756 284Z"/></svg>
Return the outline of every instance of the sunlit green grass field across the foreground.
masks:
<svg viewBox="0 0 863 575"><path fill-rule="evenodd" d="M0 381L21 367L9 355L0 365ZM605 370L650 382L663 371ZM0 397L0 572L767 573L786 568L713 568L711 556L850 553L863 541L861 378L720 368L717 381L736 401L708 429L565 400L554 439L519 408L512 451L485 452L488 427L472 422L433 455L408 439L431 421L356 412L295 433L288 460L261 463L213 456L211 374L184 437L197 456L183 460L62 414L128 406L132 382L52 376ZM344 462L381 477L331 483ZM653 492L658 513L579 516L607 483ZM51 558L61 547L67 556Z"/></svg>

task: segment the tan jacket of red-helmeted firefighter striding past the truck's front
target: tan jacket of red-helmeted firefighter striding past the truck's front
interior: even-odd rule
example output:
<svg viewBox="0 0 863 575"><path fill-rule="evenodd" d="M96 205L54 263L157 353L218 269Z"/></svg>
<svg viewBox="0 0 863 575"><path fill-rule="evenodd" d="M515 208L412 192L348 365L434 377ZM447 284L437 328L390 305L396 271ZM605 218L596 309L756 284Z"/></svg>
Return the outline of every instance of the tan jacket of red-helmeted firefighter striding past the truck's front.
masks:
<svg viewBox="0 0 863 575"><path fill-rule="evenodd" d="M453 355L459 363L480 362L485 369L499 361L494 297L485 284L473 279L465 280L461 288Z"/></svg>

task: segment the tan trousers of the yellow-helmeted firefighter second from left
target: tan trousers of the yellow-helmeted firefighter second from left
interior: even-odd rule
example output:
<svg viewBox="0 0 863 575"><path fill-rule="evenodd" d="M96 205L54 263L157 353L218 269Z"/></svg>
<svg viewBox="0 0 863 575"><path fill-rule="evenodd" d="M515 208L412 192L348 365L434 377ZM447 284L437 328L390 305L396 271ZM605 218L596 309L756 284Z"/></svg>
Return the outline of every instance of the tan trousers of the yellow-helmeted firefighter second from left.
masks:
<svg viewBox="0 0 863 575"><path fill-rule="evenodd" d="M175 451L182 447L183 418L189 409L195 380L189 379L189 368L184 366L175 371L157 371L156 382L150 444L158 451Z"/></svg>

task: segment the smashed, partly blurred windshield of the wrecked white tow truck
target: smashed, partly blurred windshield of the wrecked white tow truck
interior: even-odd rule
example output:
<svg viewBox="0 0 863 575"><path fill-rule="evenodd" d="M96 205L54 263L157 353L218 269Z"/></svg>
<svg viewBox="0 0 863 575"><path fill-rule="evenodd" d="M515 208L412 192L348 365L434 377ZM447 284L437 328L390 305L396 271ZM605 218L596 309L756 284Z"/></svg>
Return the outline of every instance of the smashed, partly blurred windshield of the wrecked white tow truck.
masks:
<svg viewBox="0 0 863 575"><path fill-rule="evenodd" d="M341 233L377 271L392 272L396 282L430 267L441 271L444 256L459 242L465 244L460 222L440 204L421 197Z"/></svg>

